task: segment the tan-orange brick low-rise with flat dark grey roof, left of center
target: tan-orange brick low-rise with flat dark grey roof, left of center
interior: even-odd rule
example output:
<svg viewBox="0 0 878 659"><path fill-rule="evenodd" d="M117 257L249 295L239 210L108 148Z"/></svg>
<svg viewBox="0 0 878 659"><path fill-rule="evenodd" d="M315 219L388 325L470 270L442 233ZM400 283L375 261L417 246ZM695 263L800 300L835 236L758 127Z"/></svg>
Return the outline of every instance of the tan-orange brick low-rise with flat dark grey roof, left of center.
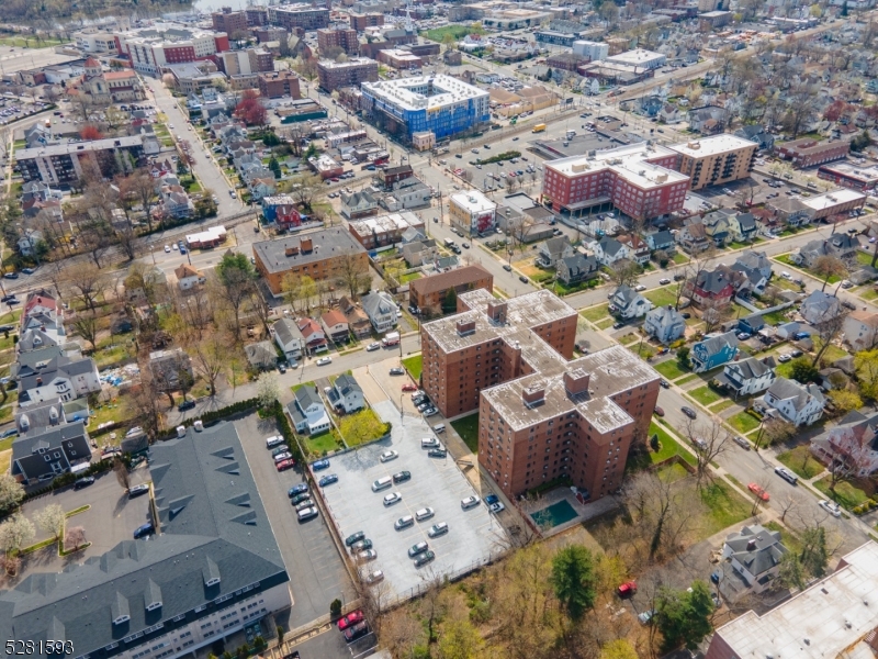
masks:
<svg viewBox="0 0 878 659"><path fill-rule="evenodd" d="M318 281L337 276L342 267L369 268L363 246L341 227L254 243L254 259L274 295L282 293L286 273L307 275Z"/></svg>

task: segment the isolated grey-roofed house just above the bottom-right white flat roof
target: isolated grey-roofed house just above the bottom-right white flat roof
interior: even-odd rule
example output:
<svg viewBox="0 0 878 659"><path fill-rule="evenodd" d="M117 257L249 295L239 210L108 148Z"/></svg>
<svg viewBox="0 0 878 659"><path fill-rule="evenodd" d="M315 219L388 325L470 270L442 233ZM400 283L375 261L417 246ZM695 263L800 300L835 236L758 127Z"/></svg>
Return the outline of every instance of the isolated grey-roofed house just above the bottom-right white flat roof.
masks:
<svg viewBox="0 0 878 659"><path fill-rule="evenodd" d="M772 587L780 571L780 561L788 549L780 541L779 530L759 524L733 533L722 545L722 558L754 593Z"/></svg>

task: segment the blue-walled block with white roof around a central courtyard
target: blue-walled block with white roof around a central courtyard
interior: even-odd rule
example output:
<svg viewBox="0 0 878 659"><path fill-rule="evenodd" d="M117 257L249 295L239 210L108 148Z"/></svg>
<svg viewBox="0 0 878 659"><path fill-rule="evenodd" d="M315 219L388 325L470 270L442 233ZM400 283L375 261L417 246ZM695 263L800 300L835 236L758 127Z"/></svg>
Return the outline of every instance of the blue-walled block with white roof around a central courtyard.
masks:
<svg viewBox="0 0 878 659"><path fill-rule="evenodd" d="M491 116L488 92L451 76L415 76L360 87L363 114L407 141L424 132L437 139L451 137L477 130Z"/></svg>

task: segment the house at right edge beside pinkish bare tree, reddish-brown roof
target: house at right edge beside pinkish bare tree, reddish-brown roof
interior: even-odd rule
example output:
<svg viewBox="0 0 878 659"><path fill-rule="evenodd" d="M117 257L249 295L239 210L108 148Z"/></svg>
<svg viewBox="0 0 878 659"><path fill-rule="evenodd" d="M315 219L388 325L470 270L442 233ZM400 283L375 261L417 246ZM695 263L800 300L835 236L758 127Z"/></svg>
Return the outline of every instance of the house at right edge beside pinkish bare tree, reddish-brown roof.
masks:
<svg viewBox="0 0 878 659"><path fill-rule="evenodd" d="M878 471L878 416L854 410L838 425L811 439L811 453L826 465L843 465L857 478Z"/></svg>

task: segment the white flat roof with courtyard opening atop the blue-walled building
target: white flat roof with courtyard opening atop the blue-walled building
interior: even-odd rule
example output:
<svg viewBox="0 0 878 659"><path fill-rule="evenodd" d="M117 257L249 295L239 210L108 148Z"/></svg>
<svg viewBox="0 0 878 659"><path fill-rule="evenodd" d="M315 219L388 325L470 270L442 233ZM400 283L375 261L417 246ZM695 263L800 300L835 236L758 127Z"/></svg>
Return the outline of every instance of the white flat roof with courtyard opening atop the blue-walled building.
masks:
<svg viewBox="0 0 878 659"><path fill-rule="evenodd" d="M361 87L404 110L434 110L469 99L488 98L487 91L444 75L363 82Z"/></svg>

